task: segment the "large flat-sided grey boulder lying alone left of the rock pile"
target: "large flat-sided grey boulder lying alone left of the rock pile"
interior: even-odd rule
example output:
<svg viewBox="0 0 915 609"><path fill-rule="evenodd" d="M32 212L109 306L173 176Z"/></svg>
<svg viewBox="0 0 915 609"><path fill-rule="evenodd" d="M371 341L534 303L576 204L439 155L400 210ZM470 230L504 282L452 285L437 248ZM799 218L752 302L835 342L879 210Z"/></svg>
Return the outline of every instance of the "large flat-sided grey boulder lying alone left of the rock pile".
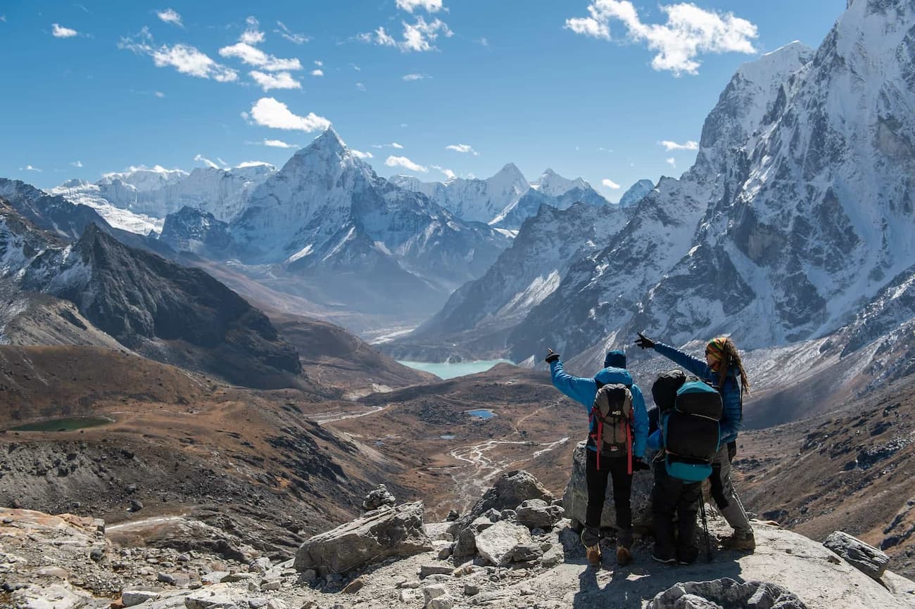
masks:
<svg viewBox="0 0 915 609"><path fill-rule="evenodd" d="M356 518L303 543L293 566L298 572L345 573L432 550L432 540L423 527L423 511L423 503L416 502Z"/></svg>

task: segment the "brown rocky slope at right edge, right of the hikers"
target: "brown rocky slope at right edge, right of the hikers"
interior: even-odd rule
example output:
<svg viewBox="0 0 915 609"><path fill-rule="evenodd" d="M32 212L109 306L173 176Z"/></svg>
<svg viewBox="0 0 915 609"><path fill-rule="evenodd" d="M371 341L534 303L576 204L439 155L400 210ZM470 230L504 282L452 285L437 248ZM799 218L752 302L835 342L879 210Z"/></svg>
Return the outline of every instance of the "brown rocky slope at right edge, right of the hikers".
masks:
<svg viewBox="0 0 915 609"><path fill-rule="evenodd" d="M830 414L744 433L735 465L747 507L824 540L845 530L915 575L915 378Z"/></svg>

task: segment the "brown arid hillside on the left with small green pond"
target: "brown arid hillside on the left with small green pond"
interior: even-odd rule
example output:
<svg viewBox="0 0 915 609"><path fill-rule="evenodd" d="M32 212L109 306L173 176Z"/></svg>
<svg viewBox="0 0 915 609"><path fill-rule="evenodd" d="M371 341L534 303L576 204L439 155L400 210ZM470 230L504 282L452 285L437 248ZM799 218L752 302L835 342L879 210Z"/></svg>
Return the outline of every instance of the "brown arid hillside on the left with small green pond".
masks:
<svg viewBox="0 0 915 609"><path fill-rule="evenodd" d="M380 482L406 494L384 455L306 416L347 405L236 388L119 350L0 347L0 505L112 524L183 515L284 554L299 534L358 513ZM114 422L9 431L90 414Z"/></svg>

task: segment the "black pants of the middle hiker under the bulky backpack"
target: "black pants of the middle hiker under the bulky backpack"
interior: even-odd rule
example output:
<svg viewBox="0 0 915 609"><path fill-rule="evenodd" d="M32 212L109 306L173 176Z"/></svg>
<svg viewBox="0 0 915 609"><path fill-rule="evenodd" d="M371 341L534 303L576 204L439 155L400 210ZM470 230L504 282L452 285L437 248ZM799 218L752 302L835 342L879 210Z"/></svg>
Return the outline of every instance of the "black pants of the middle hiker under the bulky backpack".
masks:
<svg viewBox="0 0 915 609"><path fill-rule="evenodd" d="M662 461L654 464L651 516L654 524L654 555L661 560L695 561L695 512L702 499L701 482L685 482L667 474ZM677 521L674 524L673 517Z"/></svg>

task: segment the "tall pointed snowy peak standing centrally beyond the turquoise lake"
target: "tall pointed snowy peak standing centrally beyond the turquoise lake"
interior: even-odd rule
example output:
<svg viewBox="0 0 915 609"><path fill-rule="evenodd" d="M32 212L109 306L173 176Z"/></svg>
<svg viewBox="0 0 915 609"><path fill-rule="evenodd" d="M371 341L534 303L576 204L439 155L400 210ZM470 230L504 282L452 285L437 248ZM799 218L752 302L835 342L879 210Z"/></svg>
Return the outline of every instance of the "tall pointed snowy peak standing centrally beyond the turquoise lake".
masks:
<svg viewBox="0 0 915 609"><path fill-rule="evenodd" d="M340 283L344 294L335 297L360 306L371 301L357 292L370 287L402 304L416 298L440 306L509 244L489 226L377 176L332 129L256 187L230 231L243 262L318 273L324 288ZM355 275L344 282L342 273Z"/></svg>

